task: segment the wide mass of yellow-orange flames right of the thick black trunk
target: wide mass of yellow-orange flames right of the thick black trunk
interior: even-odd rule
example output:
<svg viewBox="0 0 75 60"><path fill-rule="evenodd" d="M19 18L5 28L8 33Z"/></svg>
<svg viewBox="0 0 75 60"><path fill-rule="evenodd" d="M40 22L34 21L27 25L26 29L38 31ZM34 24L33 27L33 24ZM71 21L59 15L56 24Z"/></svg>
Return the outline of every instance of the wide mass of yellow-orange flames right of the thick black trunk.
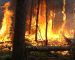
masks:
<svg viewBox="0 0 75 60"><path fill-rule="evenodd" d="M49 46L64 46L67 45L66 40L64 39L64 36L67 38L74 38L74 30L73 29L65 29L66 25L66 0L63 0L63 8L62 8L62 24L60 25L60 28L53 31L53 21L55 20L56 13L54 10L48 10L48 14L46 16L46 1L43 0L43 2L40 4L39 7L39 14L38 14L38 23L36 23L37 19L37 9L34 8L34 14L31 18L31 30L26 31L25 37L30 41L30 43L34 46L36 45L42 45L45 43L45 41L48 41ZM47 23L46 23L47 19ZM30 20L27 19L27 24L29 25ZM36 24L38 26L36 27ZM46 27L47 24L47 27ZM29 25L30 26L30 25ZM28 26L27 26L28 27ZM36 32L36 28L38 29ZM46 35L46 29L47 29L47 35ZM35 36L37 33L37 41L35 41ZM63 36L64 35L64 36Z"/></svg>

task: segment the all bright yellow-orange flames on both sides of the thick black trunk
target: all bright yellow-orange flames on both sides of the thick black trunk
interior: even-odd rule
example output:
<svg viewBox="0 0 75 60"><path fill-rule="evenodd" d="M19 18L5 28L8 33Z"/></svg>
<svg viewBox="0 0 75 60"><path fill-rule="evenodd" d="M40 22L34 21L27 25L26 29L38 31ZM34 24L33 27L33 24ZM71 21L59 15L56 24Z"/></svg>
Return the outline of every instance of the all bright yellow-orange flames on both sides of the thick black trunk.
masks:
<svg viewBox="0 0 75 60"><path fill-rule="evenodd" d="M25 33L25 38L30 41L30 44L32 45L45 45L46 40L48 41L49 46L64 46L67 45L66 40L64 39L64 36L67 38L74 38L74 30L67 30L65 29L66 25L66 1L63 0L63 7L62 7L62 24L60 28L57 30L53 30L53 22L55 21L55 16L56 13L54 10L48 10L48 14L46 16L46 8L47 4L46 1L43 0L43 2L40 4L39 7L39 14L38 14L38 26L36 27L36 19L37 19L37 7L33 8L33 13L31 17L31 28L30 30L29 27L26 29ZM6 2L3 6L4 8L4 16L2 20L2 27L0 29L0 42L5 42L5 41L11 41L12 39L12 34L10 29L12 25L12 16L13 12L9 10L10 7L10 2ZM47 20L47 23L46 23ZM30 24L30 20L27 19L27 25ZM47 24L47 26L46 26ZM30 26L30 25L29 25ZM35 41L36 37L36 28L37 28L37 41ZM47 32L46 32L47 28ZM64 36L63 36L64 35Z"/></svg>

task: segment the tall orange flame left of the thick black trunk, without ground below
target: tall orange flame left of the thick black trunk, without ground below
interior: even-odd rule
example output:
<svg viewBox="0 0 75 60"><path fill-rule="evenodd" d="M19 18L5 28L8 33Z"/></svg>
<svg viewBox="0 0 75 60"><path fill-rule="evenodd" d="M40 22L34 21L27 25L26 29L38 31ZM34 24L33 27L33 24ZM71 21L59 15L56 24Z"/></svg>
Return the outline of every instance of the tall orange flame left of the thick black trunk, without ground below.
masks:
<svg viewBox="0 0 75 60"><path fill-rule="evenodd" d="M12 27L11 17L13 16L13 12L9 10L10 2L6 2L2 7L4 8L4 16L2 20L2 27L0 29L0 41L5 42L11 40L10 29Z"/></svg>

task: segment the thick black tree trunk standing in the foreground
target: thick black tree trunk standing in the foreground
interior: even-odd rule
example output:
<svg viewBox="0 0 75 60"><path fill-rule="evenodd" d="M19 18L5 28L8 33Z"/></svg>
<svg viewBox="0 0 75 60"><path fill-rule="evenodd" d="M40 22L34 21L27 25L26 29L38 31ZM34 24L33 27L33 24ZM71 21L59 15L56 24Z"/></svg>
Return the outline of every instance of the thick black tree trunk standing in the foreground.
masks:
<svg viewBox="0 0 75 60"><path fill-rule="evenodd" d="M24 42L25 42L25 2L26 0L17 0L15 10L15 28L13 39L13 60L24 60Z"/></svg>

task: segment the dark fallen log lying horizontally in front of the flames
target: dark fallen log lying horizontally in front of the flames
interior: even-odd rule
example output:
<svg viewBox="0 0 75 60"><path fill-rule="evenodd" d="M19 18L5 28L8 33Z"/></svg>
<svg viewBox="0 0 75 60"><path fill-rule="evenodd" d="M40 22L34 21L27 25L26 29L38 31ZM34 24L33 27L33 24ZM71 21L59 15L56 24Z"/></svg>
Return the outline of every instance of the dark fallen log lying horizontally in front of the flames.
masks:
<svg viewBox="0 0 75 60"><path fill-rule="evenodd" d="M27 47L27 50L29 51L70 51L72 49L71 46L30 46Z"/></svg>

